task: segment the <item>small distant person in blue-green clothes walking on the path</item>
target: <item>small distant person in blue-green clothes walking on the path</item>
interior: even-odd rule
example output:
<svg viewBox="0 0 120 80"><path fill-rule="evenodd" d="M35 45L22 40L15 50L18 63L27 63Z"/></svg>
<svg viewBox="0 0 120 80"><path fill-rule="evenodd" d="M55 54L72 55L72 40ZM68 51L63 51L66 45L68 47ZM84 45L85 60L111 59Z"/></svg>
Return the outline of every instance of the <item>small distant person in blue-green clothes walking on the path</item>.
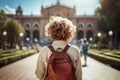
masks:
<svg viewBox="0 0 120 80"><path fill-rule="evenodd" d="M87 56L88 56L88 43L86 40L84 40L83 44L82 44L82 54L84 56L84 65L83 66L86 66L87 65Z"/></svg>

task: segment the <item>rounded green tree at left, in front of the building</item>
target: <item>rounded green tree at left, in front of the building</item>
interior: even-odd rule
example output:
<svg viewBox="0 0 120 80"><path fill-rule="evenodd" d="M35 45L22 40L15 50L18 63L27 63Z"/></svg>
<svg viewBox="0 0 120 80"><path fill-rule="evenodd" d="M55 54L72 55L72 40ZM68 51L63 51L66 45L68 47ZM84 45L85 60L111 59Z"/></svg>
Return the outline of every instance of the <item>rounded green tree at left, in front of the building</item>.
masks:
<svg viewBox="0 0 120 80"><path fill-rule="evenodd" d="M15 19L8 19L3 30L7 31L7 43L9 48L14 48L20 40L19 33L25 33L24 28Z"/></svg>

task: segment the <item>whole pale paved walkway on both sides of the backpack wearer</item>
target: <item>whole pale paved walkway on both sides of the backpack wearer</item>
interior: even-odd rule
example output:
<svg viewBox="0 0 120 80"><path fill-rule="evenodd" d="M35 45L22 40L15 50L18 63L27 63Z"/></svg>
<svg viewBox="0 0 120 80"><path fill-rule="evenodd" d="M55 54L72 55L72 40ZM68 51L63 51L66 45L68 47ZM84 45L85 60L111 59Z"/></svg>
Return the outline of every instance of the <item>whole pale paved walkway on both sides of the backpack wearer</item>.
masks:
<svg viewBox="0 0 120 80"><path fill-rule="evenodd" d="M0 68L0 80L38 80L34 74L37 57L35 54ZM92 58L88 60L88 66L83 67L83 80L120 80L120 71Z"/></svg>

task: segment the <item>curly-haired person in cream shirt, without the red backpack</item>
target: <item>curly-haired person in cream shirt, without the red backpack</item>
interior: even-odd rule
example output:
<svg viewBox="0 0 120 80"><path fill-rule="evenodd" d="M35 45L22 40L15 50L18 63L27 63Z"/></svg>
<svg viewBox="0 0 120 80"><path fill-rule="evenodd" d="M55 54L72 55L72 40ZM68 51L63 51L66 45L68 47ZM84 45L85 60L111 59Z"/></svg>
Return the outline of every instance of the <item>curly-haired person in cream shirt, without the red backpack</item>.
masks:
<svg viewBox="0 0 120 80"><path fill-rule="evenodd" d="M68 45L68 42L71 40L76 31L76 27L66 18L52 16L50 17L49 23L45 26L45 30L46 35L53 40L51 45L56 50L58 48L64 49L64 47ZM67 54L71 58L75 68L76 80L82 80L82 67L79 48L70 45L67 50ZM40 50L36 68L36 75L40 80L45 80L50 56L51 50L48 46L45 46Z"/></svg>

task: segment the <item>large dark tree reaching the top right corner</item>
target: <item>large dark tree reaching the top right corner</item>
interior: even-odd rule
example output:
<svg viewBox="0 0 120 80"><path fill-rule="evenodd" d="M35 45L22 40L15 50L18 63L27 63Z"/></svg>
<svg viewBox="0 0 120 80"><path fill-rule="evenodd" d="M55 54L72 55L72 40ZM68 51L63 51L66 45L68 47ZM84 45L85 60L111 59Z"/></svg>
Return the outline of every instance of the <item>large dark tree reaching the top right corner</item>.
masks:
<svg viewBox="0 0 120 80"><path fill-rule="evenodd" d="M107 34L109 30L113 31L114 46L118 47L120 45L120 0L100 0L100 3L98 26Z"/></svg>

